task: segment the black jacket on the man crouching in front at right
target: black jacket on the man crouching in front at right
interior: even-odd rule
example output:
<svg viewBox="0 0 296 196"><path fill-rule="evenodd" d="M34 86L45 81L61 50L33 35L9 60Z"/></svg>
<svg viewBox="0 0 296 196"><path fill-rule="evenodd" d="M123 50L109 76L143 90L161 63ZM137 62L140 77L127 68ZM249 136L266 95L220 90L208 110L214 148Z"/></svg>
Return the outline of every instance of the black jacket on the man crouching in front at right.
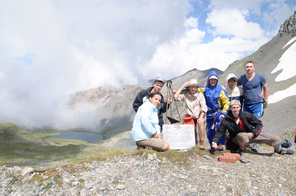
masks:
<svg viewBox="0 0 296 196"><path fill-rule="evenodd" d="M239 117L244 122L244 124L246 124L247 130L242 130L239 127L240 124L237 125L231 110L229 110L227 115L222 119L215 137L213 138L213 142L218 143L225 134L226 129L228 129L229 132L229 139L234 138L238 133L242 132L252 133L254 137L259 135L263 127L261 120L252 115L250 112L239 111Z"/></svg>

